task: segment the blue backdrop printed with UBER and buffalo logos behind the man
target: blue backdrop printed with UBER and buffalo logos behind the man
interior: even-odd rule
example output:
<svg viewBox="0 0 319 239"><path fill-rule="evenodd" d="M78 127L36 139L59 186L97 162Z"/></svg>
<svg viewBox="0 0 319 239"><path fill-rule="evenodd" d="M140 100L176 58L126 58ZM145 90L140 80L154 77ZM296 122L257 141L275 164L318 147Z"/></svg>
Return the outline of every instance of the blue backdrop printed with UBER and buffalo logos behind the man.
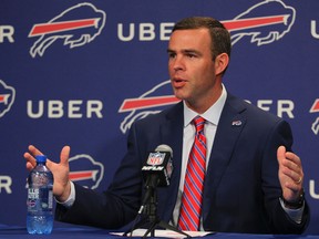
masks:
<svg viewBox="0 0 319 239"><path fill-rule="evenodd" d="M70 145L72 180L105 189L131 124L176 103L174 22L210 15L231 33L227 90L291 124L306 233L319 233L318 10L318 0L1 0L0 224L25 225L29 144L53 160Z"/></svg>

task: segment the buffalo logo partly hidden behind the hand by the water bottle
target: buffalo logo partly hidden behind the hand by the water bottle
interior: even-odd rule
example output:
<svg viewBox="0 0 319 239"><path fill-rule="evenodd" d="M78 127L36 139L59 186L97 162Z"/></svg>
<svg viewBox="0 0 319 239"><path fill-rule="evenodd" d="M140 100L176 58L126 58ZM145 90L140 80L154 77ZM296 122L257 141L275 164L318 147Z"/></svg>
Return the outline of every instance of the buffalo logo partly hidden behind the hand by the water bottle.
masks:
<svg viewBox="0 0 319 239"><path fill-rule="evenodd" d="M95 189L99 187L103 176L103 164L95 162L90 155L76 155L69 159L70 179L76 181L83 187Z"/></svg>

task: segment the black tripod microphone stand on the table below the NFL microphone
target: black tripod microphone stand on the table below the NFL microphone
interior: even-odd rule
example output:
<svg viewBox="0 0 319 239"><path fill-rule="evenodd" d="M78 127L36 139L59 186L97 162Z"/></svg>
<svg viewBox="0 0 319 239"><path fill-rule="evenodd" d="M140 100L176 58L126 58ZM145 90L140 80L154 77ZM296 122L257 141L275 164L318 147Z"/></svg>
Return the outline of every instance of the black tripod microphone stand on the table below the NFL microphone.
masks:
<svg viewBox="0 0 319 239"><path fill-rule="evenodd" d="M155 189L156 187L152 187L148 186L146 187L147 190L146 194L150 194L150 198L146 198L146 202L144 205L142 205L137 217L143 212L145 215L144 218L142 218L140 221L137 221L137 224L133 225L133 227L131 228L130 231L126 231L123 236L127 236L128 232L131 232L131 237L132 233L135 229L145 226L145 225L150 225L148 229L146 230L146 232L144 233L143 238L146 238L148 233L151 233L151 237L155 237L155 229L157 227L161 227L163 229L168 229L172 231L175 231L177 233L184 235L187 238L191 238L189 235L185 233L184 231L179 230L178 228L167 224L166 221L163 221L160 219L160 217L157 216L157 191ZM137 219L137 218L136 218Z"/></svg>

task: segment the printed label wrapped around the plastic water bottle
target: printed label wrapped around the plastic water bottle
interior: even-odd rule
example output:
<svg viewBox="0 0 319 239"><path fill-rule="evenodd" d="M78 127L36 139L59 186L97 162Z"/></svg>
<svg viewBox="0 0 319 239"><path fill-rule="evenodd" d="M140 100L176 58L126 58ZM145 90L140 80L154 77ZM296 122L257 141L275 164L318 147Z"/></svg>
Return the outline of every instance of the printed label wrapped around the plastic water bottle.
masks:
<svg viewBox="0 0 319 239"><path fill-rule="evenodd" d="M52 211L53 194L52 188L29 188L28 211Z"/></svg>

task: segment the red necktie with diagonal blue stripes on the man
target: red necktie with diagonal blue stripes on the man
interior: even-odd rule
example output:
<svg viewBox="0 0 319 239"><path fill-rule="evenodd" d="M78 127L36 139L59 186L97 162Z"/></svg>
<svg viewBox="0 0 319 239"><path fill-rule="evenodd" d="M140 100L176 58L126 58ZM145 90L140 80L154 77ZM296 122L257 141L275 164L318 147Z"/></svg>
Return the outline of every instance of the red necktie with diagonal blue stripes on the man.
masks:
<svg viewBox="0 0 319 239"><path fill-rule="evenodd" d="M206 137L204 135L205 119L194 118L196 127L195 141L189 154L182 197L178 228L197 231L200 227L200 212L204 178L206 172Z"/></svg>

